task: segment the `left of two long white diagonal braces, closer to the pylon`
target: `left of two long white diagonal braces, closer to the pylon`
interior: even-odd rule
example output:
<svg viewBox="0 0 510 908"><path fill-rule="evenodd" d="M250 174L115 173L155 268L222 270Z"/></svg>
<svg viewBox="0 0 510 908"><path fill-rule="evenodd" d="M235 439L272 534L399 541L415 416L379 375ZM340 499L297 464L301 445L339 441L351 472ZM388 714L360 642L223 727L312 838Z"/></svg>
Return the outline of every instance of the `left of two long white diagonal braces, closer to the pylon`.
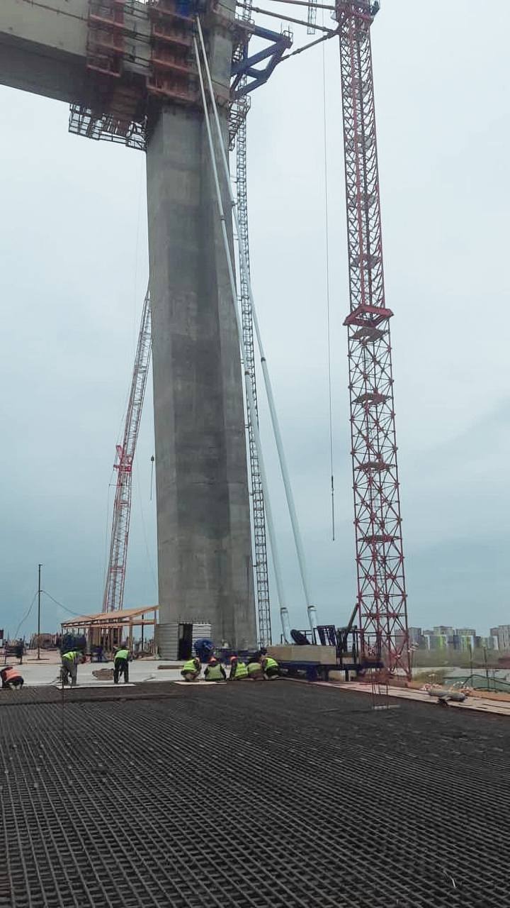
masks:
<svg viewBox="0 0 510 908"><path fill-rule="evenodd" d="M262 491L264 494L264 505L266 508L266 521L268 524L268 536L270 538L270 549L271 549L271 556L272 556L272 561L273 561L274 576L275 576L275 581L276 581L278 599L279 599L279 603L280 603L281 627L283 630L283 637L285 638L286 643L289 643L289 640L286 637L286 631L285 631L285 625L284 625L284 615L289 616L289 609L287 608L285 594L283 591L283 584L281 582L280 554L279 554L278 545L276 542L276 535L275 535L274 523L273 523L273 518L272 518L272 510L271 510L271 506L270 506L268 477L267 477L266 467L264 464L264 458L263 458L263 454L262 454L259 422L257 419L257 410L255 409L255 401L253 400L253 390L251 388L251 376L250 376L249 370L244 368L244 362L247 360L247 356L246 356L246 350L244 348L244 339L243 339L243 335L242 335L242 323L240 321L240 312L239 312L239 308L238 308L236 281L235 281L235 277L234 277L234 270L232 267L232 259L230 256L229 236L227 233L225 212L223 209L223 202L221 201L220 180L218 177L218 168L216 166L216 156L214 154L214 144L212 142L209 110L207 107L207 99L205 96L203 77L201 74L201 62L200 62L200 56L199 56L199 48L198 48L198 44L197 44L197 39L194 37L194 35L193 35L193 44L194 44L195 56L196 56L196 60L197 60L197 67L198 67L198 71L199 71L199 80L200 80L200 86L201 86L201 100L202 100L202 104L203 104L205 124L207 127L207 138L208 138L208 142L209 142L209 150L211 153L211 164L212 164L212 173L214 176L214 185L216 188L216 199L218 202L218 210L220 212L221 233L223 236L223 245L225 247L225 254L227 256L227 267L229 270L230 291L232 294L232 302L233 302L234 312L235 312L235 316L236 316L237 330L238 330L238 334L239 334L240 348L241 348L242 358L243 358L244 383L246 386L246 397L248 400L248 409L250 411L251 427L253 429L253 437L255 439L255 446L257 448L257 454L259 456L260 479L262 481ZM288 617L287 617L287 624L289 624Z"/></svg>

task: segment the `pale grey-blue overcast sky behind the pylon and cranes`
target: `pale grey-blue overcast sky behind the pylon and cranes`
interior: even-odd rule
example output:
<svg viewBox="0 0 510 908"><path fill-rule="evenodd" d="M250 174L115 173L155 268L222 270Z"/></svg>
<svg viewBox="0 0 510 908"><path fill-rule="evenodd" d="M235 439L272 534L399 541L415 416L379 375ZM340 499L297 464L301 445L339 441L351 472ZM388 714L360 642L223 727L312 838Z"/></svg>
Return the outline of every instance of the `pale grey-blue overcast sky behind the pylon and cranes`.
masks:
<svg viewBox="0 0 510 908"><path fill-rule="evenodd" d="M273 26L274 27L274 26ZM409 621L509 620L508 5L482 17L385 0L373 27ZM299 35L297 41L306 40ZM325 45L337 540L330 538L322 50L253 96L253 286L319 618L356 594L338 45ZM144 159L67 133L67 109L0 89L0 627L44 587L99 609L114 443L145 291ZM126 605L155 602L152 398L134 481ZM262 434L291 620L305 626L274 449ZM44 629L64 618L44 601ZM279 630L277 615L274 627ZM33 616L22 628L34 627Z"/></svg>

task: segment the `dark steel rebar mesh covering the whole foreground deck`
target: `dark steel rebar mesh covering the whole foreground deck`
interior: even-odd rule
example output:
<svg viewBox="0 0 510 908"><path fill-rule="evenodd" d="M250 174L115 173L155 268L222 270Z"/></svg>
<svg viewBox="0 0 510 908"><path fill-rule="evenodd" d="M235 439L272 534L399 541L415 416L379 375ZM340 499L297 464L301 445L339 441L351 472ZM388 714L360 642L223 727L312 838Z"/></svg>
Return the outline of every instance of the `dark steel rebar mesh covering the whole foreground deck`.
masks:
<svg viewBox="0 0 510 908"><path fill-rule="evenodd" d="M2 908L510 906L505 717L104 690L0 694Z"/></svg>

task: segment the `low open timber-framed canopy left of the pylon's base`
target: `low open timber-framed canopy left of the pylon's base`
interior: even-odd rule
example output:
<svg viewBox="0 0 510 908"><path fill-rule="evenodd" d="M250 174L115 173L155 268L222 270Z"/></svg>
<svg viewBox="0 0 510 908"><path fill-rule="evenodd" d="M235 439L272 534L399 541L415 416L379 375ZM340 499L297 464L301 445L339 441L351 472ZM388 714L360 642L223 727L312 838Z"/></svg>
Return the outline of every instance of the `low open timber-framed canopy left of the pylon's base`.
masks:
<svg viewBox="0 0 510 908"><path fill-rule="evenodd" d="M83 634L87 638L87 647L103 646L106 652L112 651L123 642L128 642L132 649L133 628L142 628L142 648L145 627L155 628L158 622L159 606L142 606L139 608L122 608L113 612L99 612L96 615L82 615L63 621L63 634ZM145 617L149 615L151 617ZM152 634L153 647L153 634Z"/></svg>

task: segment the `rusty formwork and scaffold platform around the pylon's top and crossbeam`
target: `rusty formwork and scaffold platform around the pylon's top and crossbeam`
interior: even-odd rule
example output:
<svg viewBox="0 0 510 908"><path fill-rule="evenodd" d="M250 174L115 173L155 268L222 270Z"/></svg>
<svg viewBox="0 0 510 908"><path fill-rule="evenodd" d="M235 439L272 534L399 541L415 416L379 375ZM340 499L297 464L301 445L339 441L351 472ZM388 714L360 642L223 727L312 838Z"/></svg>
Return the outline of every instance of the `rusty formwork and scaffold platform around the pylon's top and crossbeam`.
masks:
<svg viewBox="0 0 510 908"><path fill-rule="evenodd" d="M145 151L151 104L198 104L192 24L182 0L89 0L88 79L69 132Z"/></svg>

